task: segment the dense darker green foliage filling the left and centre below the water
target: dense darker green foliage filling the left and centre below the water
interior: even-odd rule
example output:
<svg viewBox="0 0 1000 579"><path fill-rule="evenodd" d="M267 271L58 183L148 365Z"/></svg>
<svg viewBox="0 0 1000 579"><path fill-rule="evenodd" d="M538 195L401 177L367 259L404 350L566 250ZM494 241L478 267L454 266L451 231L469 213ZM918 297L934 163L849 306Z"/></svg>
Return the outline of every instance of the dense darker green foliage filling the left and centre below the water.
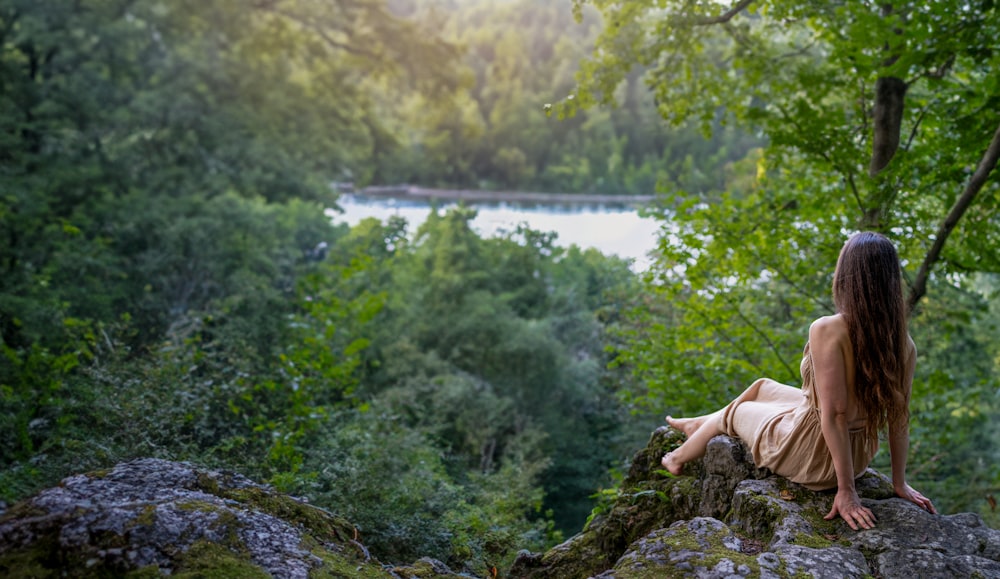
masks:
<svg viewBox="0 0 1000 579"><path fill-rule="evenodd" d="M387 561L478 571L582 524L627 452L604 369L627 264L465 210L414 234L325 214L405 148L383 95L468 90L432 25L0 2L4 500L190 459L340 511Z"/></svg>

